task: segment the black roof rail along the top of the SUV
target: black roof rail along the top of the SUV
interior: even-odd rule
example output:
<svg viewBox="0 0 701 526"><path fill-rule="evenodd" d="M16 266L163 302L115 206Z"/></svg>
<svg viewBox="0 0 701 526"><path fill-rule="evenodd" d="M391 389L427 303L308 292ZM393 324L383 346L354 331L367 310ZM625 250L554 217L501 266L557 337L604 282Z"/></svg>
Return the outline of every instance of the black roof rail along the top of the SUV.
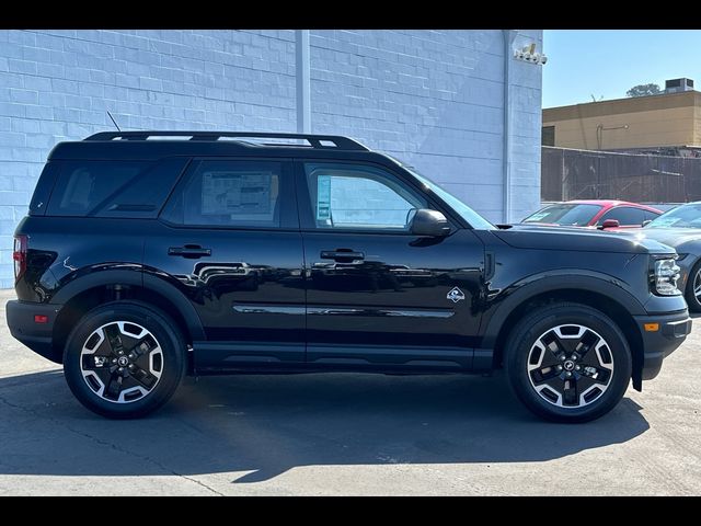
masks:
<svg viewBox="0 0 701 526"><path fill-rule="evenodd" d="M363 150L369 149L360 142L348 137L337 135L310 135L310 134L275 134L258 132L100 132L91 135L84 140L148 140L149 137L156 139L163 137L189 137L188 140L219 140L225 138L255 138L255 139L303 139L311 148L338 148L340 150ZM301 146L284 142L263 144L261 146Z"/></svg>

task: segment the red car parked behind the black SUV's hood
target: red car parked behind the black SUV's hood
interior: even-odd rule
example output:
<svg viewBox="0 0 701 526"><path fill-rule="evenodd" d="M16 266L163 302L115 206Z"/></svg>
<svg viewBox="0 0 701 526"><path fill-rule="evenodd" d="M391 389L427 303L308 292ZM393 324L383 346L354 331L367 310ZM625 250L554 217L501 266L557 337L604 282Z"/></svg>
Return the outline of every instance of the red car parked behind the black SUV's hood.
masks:
<svg viewBox="0 0 701 526"><path fill-rule="evenodd" d="M625 201L567 201L548 205L522 222L570 227L639 228L655 219L662 210Z"/></svg>

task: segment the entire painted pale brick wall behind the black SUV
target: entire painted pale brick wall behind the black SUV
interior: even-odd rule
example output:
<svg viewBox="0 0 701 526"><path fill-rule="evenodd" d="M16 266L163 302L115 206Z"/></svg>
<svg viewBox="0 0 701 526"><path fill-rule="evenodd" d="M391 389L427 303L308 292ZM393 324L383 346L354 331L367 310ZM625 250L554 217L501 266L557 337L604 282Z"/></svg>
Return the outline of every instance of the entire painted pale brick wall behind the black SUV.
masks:
<svg viewBox="0 0 701 526"><path fill-rule="evenodd" d="M501 220L503 64L496 30L312 31L312 130L401 157ZM0 287L56 142L113 129L107 110L123 129L295 132L295 75L294 31L0 30ZM512 75L518 217L540 196L540 67Z"/></svg>

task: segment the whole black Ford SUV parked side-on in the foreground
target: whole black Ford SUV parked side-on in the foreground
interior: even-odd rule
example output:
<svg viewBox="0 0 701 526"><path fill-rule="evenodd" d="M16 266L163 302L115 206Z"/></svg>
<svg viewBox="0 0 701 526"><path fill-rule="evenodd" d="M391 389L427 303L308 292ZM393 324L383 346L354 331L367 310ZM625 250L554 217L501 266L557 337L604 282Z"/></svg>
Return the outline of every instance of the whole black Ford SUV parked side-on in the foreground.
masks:
<svg viewBox="0 0 701 526"><path fill-rule="evenodd" d="M8 324L110 418L153 411L185 374L504 366L537 414L587 421L691 330L675 258L497 228L345 137L101 133L49 156Z"/></svg>

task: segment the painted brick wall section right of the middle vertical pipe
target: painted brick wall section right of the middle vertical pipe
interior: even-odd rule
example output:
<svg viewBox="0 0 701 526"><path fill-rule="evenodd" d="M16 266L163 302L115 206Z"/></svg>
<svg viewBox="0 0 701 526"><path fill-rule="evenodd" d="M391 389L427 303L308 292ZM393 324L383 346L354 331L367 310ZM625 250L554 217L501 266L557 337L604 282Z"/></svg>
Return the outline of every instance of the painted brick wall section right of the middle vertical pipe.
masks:
<svg viewBox="0 0 701 526"><path fill-rule="evenodd" d="M515 46L536 41L518 34ZM512 217L540 203L541 69L512 62ZM494 221L503 209L504 39L491 31L312 31L314 132L418 168Z"/></svg>

